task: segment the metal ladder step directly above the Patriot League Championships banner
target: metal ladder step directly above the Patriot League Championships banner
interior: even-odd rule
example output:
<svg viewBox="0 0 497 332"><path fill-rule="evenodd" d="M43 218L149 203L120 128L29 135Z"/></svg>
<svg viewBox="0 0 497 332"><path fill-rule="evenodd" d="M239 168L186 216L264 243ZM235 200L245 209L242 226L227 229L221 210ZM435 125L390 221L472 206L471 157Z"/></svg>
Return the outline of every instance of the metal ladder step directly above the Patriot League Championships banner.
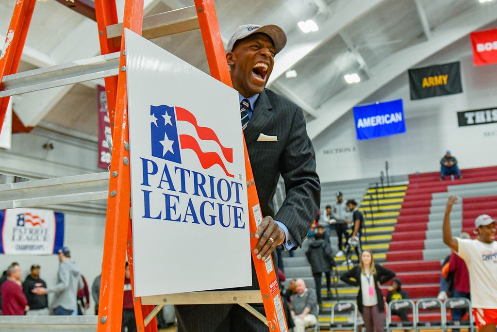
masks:
<svg viewBox="0 0 497 332"><path fill-rule="evenodd" d="M104 200L109 172L0 185L0 209Z"/></svg>

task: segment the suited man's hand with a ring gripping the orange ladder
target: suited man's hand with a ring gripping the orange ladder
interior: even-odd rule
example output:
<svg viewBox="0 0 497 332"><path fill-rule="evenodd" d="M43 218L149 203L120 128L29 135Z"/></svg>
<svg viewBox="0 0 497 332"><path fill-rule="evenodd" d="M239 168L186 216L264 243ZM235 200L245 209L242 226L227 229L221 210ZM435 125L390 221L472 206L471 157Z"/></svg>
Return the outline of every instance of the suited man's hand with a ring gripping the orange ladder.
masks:
<svg viewBox="0 0 497 332"><path fill-rule="evenodd" d="M277 246L285 241L285 232L273 218L266 216L257 227L255 238L259 239L259 242L253 252L257 254L257 259L266 259Z"/></svg>

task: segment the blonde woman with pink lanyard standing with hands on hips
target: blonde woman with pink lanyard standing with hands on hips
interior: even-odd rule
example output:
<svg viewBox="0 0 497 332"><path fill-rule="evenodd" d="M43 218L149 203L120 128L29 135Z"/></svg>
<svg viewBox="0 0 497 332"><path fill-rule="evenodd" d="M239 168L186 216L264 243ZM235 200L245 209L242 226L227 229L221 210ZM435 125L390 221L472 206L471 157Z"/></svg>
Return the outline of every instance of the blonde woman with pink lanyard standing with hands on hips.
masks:
<svg viewBox="0 0 497 332"><path fill-rule="evenodd" d="M357 293L357 307L364 319L366 332L383 332L385 327L385 313L383 295L380 284L395 277L389 269L374 263L373 253L363 250L361 261L340 277L342 281L359 286Z"/></svg>

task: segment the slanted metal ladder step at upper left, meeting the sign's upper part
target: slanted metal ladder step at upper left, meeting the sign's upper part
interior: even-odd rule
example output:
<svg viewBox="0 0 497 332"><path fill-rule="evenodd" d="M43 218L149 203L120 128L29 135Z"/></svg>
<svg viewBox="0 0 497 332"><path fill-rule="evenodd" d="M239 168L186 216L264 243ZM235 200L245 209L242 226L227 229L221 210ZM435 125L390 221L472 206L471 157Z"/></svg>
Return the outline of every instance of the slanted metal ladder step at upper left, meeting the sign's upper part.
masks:
<svg viewBox="0 0 497 332"><path fill-rule="evenodd" d="M81 83L119 73L120 52L4 76L0 98Z"/></svg>

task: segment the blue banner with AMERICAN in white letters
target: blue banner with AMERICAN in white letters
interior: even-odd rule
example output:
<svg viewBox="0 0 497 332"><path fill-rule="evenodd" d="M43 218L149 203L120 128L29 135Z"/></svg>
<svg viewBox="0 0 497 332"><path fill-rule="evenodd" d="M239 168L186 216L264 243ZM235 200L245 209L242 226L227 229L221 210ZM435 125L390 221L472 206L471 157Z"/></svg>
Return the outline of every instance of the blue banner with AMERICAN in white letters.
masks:
<svg viewBox="0 0 497 332"><path fill-rule="evenodd" d="M406 132L402 99L354 107L357 140Z"/></svg>

